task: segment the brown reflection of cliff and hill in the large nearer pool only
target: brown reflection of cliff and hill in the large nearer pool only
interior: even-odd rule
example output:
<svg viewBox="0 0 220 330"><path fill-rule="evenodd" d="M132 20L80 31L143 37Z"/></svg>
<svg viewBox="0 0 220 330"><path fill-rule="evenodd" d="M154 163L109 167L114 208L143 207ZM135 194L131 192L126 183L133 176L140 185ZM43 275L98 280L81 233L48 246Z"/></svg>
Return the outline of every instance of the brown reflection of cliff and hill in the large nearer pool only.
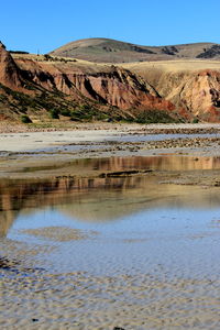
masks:
<svg viewBox="0 0 220 330"><path fill-rule="evenodd" d="M107 221L160 207L219 206L220 197L198 187L157 185L150 177L73 179L0 184L0 235L20 212L54 207L82 221ZM191 198L194 196L194 198Z"/></svg>

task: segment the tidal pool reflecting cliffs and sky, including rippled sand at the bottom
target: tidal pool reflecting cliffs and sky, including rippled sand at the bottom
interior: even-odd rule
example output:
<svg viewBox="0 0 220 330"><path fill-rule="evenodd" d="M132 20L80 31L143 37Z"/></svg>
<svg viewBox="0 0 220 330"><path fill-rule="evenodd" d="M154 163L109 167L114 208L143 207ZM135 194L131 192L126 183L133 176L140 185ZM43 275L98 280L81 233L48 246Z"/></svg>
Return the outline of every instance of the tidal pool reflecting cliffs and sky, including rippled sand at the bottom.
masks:
<svg viewBox="0 0 220 330"><path fill-rule="evenodd" d="M0 324L218 329L220 188L160 184L153 174L219 169L219 158L77 166L119 176L0 182ZM121 175L132 168L153 172Z"/></svg>

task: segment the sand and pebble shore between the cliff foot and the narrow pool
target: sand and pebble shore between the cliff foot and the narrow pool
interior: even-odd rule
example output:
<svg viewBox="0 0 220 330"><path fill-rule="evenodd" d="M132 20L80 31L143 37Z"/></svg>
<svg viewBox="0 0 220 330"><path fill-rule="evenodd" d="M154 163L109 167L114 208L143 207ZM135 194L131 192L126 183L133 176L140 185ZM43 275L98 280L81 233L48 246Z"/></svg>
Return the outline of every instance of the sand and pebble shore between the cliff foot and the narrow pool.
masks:
<svg viewBox="0 0 220 330"><path fill-rule="evenodd" d="M0 178L98 177L105 174L92 168L75 168L77 160L220 156L220 124L88 127L89 130L82 125L74 131L0 134ZM183 131L187 134L183 134ZM193 172L193 183L205 182L202 172ZM211 180L211 168L206 173L209 185L220 182L217 170L212 172L215 180ZM168 170L154 172L158 178L167 176L167 180L170 180L173 174ZM180 172L176 174L183 177L183 184L191 183L191 179L187 179L189 174L186 174L185 179Z"/></svg>

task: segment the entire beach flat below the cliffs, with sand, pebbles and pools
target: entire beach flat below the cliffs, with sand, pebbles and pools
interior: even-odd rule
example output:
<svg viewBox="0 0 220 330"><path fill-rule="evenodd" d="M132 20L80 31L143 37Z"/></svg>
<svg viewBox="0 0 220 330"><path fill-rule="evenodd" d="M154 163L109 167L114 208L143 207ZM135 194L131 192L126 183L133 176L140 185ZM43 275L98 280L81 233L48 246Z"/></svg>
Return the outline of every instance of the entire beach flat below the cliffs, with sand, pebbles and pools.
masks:
<svg viewBox="0 0 220 330"><path fill-rule="evenodd" d="M219 124L3 131L1 329L218 329L219 157Z"/></svg>

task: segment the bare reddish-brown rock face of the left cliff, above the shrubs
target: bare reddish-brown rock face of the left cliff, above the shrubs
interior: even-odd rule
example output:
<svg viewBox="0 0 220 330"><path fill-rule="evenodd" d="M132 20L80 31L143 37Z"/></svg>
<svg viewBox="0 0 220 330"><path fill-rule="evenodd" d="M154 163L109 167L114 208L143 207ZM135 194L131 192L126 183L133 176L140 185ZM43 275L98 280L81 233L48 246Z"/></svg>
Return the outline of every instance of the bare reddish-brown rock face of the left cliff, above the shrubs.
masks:
<svg viewBox="0 0 220 330"><path fill-rule="evenodd" d="M128 110L133 118L138 109L140 111L175 110L172 102L162 99L147 81L127 69L103 65L96 67L94 64L80 66L61 61L53 63L20 58L14 62L3 45L0 50L0 84L12 90L28 95L55 92L59 99L67 99L69 102L85 103L91 100L99 109L106 107L108 111L108 108L116 107L122 111ZM24 81L26 90L22 88L21 81ZM53 95L51 96L53 98ZM23 105L24 101L20 102L18 108L21 108L21 103Z"/></svg>

